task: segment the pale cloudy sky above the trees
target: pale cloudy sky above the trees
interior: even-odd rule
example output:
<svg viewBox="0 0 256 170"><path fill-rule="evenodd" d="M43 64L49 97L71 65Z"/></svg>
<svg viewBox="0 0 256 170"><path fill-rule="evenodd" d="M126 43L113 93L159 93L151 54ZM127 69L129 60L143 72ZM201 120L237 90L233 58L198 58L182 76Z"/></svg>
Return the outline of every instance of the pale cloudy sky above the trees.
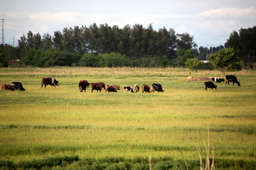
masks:
<svg viewBox="0 0 256 170"><path fill-rule="evenodd" d="M255 0L0 0L4 43L18 45L22 35L63 28L142 24L193 36L198 47L225 45L230 33L256 26ZM2 20L1 20L2 21ZM2 22L0 25L2 43Z"/></svg>

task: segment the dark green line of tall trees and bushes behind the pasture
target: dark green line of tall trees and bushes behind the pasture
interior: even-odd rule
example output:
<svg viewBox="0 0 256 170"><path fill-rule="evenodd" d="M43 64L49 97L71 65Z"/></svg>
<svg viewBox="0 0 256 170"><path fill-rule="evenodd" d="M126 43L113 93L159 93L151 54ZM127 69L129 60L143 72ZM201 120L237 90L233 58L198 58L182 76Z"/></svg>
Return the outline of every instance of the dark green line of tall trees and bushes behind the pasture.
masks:
<svg viewBox="0 0 256 170"><path fill-rule="evenodd" d="M238 37L254 33L245 30ZM235 47L240 50L242 58L242 52L247 51L243 49L250 48L250 44L244 45L246 41L243 38L235 39L237 37L233 38L234 35L237 35L235 31L230 34L225 47L232 47L236 42L239 45ZM147 28L140 24L119 28L108 26L107 23L100 26L93 23L89 27L64 28L62 32L55 31L53 35L46 33L41 36L40 33L28 31L27 35L22 35L18 40L18 47L1 45L0 59L3 62L0 67L15 59L37 67L186 67L188 58L206 60L208 55L225 48L222 45L210 49L196 47L193 36L176 33L172 28L167 30L164 27L156 31L151 24ZM243 62L255 63L255 49L250 51L250 57L244 57Z"/></svg>

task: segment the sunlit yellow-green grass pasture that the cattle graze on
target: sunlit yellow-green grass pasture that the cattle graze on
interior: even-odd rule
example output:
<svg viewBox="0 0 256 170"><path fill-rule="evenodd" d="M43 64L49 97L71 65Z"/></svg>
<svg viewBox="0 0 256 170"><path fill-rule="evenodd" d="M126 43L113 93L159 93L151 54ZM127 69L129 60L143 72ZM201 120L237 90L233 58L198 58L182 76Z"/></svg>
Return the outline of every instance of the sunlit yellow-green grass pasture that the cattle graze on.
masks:
<svg viewBox="0 0 256 170"><path fill-rule="evenodd" d="M176 68L0 68L0 84L21 81L26 89L0 91L1 166L7 161L16 164L74 156L79 163L58 168L114 158L119 162L143 159L148 168L149 157L152 167L157 160L167 159L199 164L196 147L206 159L209 132L210 158L213 149L218 169L232 168L241 161L243 169L253 169L256 72L228 72L238 77L241 86L222 83L217 91L205 91L204 81L186 81L188 72ZM220 77L220 72L198 71L195 76ZM55 77L60 86L41 89L43 77ZM82 79L119 84L121 91L105 94L87 89L80 93ZM164 93L122 90L152 83L160 83ZM222 162L225 165L220 166Z"/></svg>

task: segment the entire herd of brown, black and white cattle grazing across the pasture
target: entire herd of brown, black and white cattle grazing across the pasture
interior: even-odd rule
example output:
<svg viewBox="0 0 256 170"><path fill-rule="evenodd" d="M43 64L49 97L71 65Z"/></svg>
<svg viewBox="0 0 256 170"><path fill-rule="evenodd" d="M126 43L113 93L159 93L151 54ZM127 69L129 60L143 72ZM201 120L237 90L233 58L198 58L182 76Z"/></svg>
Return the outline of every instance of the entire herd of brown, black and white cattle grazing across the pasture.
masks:
<svg viewBox="0 0 256 170"><path fill-rule="evenodd" d="M216 89L217 90L217 86L214 84L214 82L218 82L218 84L220 85L221 82L225 81L225 84L229 84L230 82L233 82L233 86L234 84L238 84L238 86L240 86L240 82L238 81L237 77L235 77L234 75L226 75L225 76L225 80L224 79L220 79L220 78L216 78L213 77L212 81L206 81L204 82L204 85L206 86L205 91L207 91L207 88L210 89ZM43 78L42 82L41 82L41 88L43 88L43 86L50 85L50 86L58 86L59 82L54 79L54 78ZM89 86L91 86L92 88L92 92L93 90L96 91L102 91L102 89L105 90L105 92L107 93L107 91L110 92L116 92L117 90L120 90L120 86L116 85L116 84L110 84L110 85L105 85L105 83L103 82L98 82L98 83L89 83L87 80L81 80L78 84L79 86L79 90L80 92L82 91L86 91L87 88L89 88ZM12 82L11 84L2 84L0 86L0 89L4 89L4 90L11 90L11 91L25 91L25 89L23 88L21 82ZM135 84L132 88L132 86L124 86L124 91L127 92L129 91L129 93L137 93L139 91L139 85ZM151 88L146 85L146 84L142 84L142 93L151 93L154 91L158 91L158 92L164 92L164 90L162 89L161 84L151 84Z"/></svg>

